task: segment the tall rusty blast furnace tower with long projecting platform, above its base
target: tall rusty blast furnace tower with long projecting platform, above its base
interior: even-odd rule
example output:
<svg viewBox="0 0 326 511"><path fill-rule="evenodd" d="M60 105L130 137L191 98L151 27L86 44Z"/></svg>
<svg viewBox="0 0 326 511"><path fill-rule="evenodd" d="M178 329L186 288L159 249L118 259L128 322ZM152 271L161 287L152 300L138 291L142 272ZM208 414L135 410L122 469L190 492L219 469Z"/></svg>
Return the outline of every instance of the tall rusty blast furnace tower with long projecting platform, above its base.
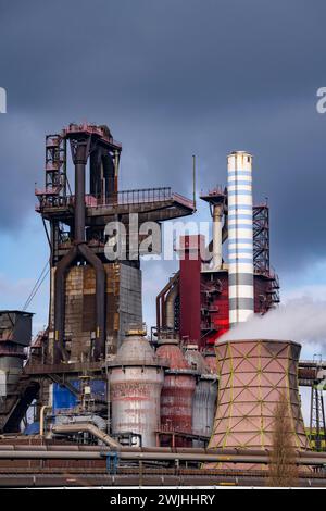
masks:
<svg viewBox="0 0 326 511"><path fill-rule="evenodd" d="M67 145L75 169L74 194ZM193 207L168 188L120 191L122 146L106 126L71 124L47 137L46 146L46 189L37 189L36 196L37 211L50 226L48 358L60 364L80 361L83 353L84 360L97 362L105 352L116 352L129 323L142 320L139 258L108 262L105 225L116 219L128 225L130 213L139 215L139 223L162 222L190 214Z"/></svg>

